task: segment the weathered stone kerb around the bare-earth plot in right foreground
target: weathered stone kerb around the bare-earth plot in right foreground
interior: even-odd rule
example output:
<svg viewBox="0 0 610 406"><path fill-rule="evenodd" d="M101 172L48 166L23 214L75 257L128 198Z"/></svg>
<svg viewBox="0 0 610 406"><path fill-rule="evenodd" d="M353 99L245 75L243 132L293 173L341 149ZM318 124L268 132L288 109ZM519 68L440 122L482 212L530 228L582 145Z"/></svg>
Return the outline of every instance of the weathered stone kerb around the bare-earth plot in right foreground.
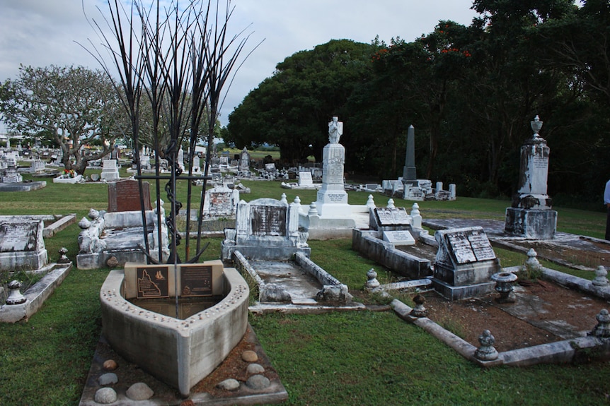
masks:
<svg viewBox="0 0 610 406"><path fill-rule="evenodd" d="M514 272L519 270L519 268L520 267L517 266L504 269L507 272ZM579 289L582 292L594 294L604 299L610 297L610 287L595 286L590 280L586 280L582 277L567 275L548 268L542 268L542 272L548 280L552 280L560 285L564 285L572 289ZM604 358L610 357L610 339L598 338L594 335L587 335L586 337L572 338L570 340L550 342L548 344L534 345L532 347L524 347L517 350L499 352L496 359L485 361L483 359L478 359L475 356L477 347L458 337L454 333L451 333L449 330L442 328L437 323L430 320L430 318L410 316L413 309L404 304L402 301L393 299L390 306L393 311L403 320L424 329L428 333L434 335L438 340L441 340L445 344L449 345L449 347L453 348L462 357L465 357L472 362L476 362L481 366L530 366L535 364L560 364L571 362L579 352L593 348L599 350L600 356ZM483 328L484 327L485 326L483 326ZM594 326L591 326L591 328L593 329Z"/></svg>

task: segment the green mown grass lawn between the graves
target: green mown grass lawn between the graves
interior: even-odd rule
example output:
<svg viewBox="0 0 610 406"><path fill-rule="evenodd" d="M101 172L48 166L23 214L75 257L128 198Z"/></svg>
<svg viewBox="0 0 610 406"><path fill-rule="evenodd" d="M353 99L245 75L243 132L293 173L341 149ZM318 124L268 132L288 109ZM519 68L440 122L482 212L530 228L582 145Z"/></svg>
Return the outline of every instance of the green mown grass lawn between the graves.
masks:
<svg viewBox="0 0 610 406"><path fill-rule="evenodd" d="M280 198L282 193L288 201L298 195L302 204L316 200L316 191L282 189L279 182L243 184L252 190L241 195L246 201ZM180 189L183 196L185 189ZM364 204L368 194L350 191L350 203ZM387 197L373 195L378 206L386 204ZM395 204L410 210L413 202L396 199ZM38 191L0 193L2 215L76 213L78 221L89 208L107 205L105 184L53 184L47 179L47 187ZM419 205L424 218L503 220L510 203L459 197ZM555 209L559 231L603 238L604 212ZM76 264L79 231L74 224L45 239L50 261L57 261L57 250L65 246ZM210 241L202 259L219 258L220 239ZM386 303L367 297L362 285L369 268L375 268L381 282L391 275L352 251L349 239L309 244L313 261L346 283L358 299ZM525 259L495 251L505 266ZM99 289L106 275L108 269L73 268L29 321L0 325L0 405L79 404L100 337ZM389 310L251 315L250 322L289 393L285 405L607 405L610 399L605 362L483 369Z"/></svg>

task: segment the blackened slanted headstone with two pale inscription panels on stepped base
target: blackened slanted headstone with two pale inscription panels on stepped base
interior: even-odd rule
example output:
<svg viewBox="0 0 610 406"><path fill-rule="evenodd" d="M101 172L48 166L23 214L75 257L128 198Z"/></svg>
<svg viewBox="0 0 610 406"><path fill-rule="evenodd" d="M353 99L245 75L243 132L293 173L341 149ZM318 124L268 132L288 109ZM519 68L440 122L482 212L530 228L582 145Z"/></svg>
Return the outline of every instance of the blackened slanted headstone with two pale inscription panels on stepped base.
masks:
<svg viewBox="0 0 610 406"><path fill-rule="evenodd" d="M439 249L432 283L437 292L457 300L492 291L491 275L500 272L500 261L482 227L439 230L435 239Z"/></svg>

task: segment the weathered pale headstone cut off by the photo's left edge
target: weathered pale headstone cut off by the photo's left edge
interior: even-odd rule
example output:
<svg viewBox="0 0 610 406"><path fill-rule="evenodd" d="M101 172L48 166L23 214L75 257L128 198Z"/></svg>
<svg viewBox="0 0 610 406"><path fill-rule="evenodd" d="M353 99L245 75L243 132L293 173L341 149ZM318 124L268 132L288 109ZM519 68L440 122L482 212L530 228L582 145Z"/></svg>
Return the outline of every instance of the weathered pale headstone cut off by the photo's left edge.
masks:
<svg viewBox="0 0 610 406"><path fill-rule="evenodd" d="M0 269L37 270L47 265L42 221L0 222Z"/></svg>

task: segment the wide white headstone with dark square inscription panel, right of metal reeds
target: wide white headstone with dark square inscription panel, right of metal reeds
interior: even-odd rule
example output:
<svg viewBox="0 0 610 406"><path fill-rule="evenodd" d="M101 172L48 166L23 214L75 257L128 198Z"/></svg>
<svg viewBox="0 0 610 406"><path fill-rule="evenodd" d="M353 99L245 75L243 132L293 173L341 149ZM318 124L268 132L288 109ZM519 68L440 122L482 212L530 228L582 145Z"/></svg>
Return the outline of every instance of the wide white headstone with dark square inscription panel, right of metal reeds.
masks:
<svg viewBox="0 0 610 406"><path fill-rule="evenodd" d="M298 252L309 257L308 235L299 231L299 207L272 198L239 202L235 229L224 230L223 261L231 260L234 251L253 259L289 260Z"/></svg>

